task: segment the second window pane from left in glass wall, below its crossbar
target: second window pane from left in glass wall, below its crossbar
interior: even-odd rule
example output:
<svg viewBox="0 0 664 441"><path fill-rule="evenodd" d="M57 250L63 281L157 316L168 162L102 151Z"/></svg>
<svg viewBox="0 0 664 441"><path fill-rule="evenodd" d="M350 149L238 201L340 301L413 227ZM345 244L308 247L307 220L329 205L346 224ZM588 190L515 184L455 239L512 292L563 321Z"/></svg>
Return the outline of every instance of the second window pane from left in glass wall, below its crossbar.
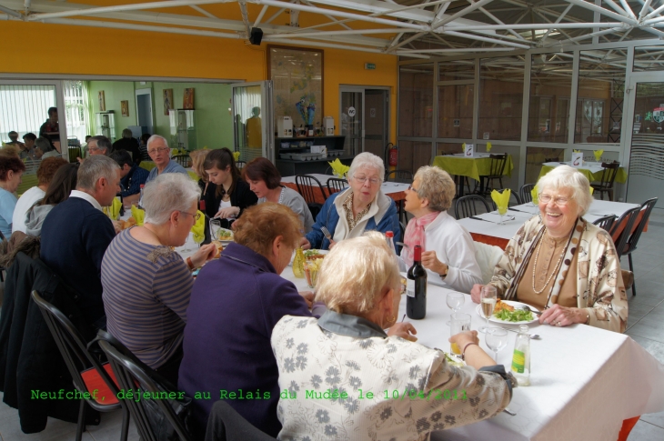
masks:
<svg viewBox="0 0 664 441"><path fill-rule="evenodd" d="M473 137L473 85L438 86L438 137Z"/></svg>

